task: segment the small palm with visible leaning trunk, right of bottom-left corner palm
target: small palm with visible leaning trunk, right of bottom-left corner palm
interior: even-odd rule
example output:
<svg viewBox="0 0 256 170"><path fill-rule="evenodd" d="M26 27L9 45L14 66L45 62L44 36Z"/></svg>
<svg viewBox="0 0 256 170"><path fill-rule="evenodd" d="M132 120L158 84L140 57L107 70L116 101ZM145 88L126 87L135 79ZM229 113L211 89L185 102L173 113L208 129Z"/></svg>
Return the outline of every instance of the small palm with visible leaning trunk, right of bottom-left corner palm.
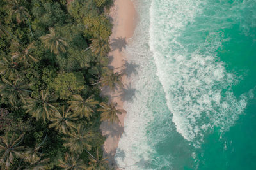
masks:
<svg viewBox="0 0 256 170"><path fill-rule="evenodd" d="M39 145L36 145L34 148L26 147L24 150L23 155L26 162L34 163L40 160L42 153L39 152L39 149L42 147L46 140L47 136L45 136L44 141L42 141Z"/></svg>

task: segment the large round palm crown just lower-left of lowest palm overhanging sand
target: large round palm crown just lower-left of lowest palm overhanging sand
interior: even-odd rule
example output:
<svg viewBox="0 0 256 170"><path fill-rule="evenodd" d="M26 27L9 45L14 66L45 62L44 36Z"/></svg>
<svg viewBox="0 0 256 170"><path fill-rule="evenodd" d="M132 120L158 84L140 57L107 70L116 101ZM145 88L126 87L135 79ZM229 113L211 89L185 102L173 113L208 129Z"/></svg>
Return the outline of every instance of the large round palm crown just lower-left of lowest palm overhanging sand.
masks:
<svg viewBox="0 0 256 170"><path fill-rule="evenodd" d="M68 132L68 137L64 137L66 142L64 146L69 147L71 152L82 153L83 150L91 150L92 146L89 144L92 141L93 134L87 131L81 124L77 126L77 131Z"/></svg>

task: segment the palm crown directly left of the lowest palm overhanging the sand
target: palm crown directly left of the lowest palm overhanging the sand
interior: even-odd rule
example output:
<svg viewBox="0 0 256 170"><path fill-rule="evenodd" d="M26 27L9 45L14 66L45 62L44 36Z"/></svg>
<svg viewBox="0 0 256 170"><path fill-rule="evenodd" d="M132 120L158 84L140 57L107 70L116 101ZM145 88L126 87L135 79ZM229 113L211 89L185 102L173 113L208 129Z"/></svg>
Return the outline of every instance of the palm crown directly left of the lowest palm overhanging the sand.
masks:
<svg viewBox="0 0 256 170"><path fill-rule="evenodd" d="M88 99L83 99L79 94L72 96L72 101L68 101L70 104L70 108L73 111L76 111L77 114L80 115L80 117L90 117L92 113L94 112L94 108L98 104L97 101L92 99L91 97L88 97Z"/></svg>

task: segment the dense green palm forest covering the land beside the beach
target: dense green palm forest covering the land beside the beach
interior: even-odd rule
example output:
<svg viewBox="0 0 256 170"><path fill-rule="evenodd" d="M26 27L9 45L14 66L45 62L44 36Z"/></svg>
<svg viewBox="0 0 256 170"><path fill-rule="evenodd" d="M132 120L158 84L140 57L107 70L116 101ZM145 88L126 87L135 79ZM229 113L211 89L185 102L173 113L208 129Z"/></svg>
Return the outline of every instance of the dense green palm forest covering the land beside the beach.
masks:
<svg viewBox="0 0 256 170"><path fill-rule="evenodd" d="M0 1L0 169L110 169L111 0ZM116 119L117 118L117 119Z"/></svg>

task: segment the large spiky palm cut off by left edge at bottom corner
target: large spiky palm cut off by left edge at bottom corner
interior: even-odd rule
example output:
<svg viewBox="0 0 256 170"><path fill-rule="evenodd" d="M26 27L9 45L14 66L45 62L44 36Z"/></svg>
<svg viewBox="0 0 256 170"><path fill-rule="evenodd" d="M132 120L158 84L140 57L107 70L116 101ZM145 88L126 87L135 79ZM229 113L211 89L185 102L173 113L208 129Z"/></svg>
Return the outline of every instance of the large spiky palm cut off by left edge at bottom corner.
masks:
<svg viewBox="0 0 256 170"><path fill-rule="evenodd" d="M22 157L22 149L24 146L19 146L22 142L24 134L21 134L18 138L16 134L13 133L5 134L5 136L0 137L0 164L3 164L5 169L10 167L13 163L14 157Z"/></svg>

